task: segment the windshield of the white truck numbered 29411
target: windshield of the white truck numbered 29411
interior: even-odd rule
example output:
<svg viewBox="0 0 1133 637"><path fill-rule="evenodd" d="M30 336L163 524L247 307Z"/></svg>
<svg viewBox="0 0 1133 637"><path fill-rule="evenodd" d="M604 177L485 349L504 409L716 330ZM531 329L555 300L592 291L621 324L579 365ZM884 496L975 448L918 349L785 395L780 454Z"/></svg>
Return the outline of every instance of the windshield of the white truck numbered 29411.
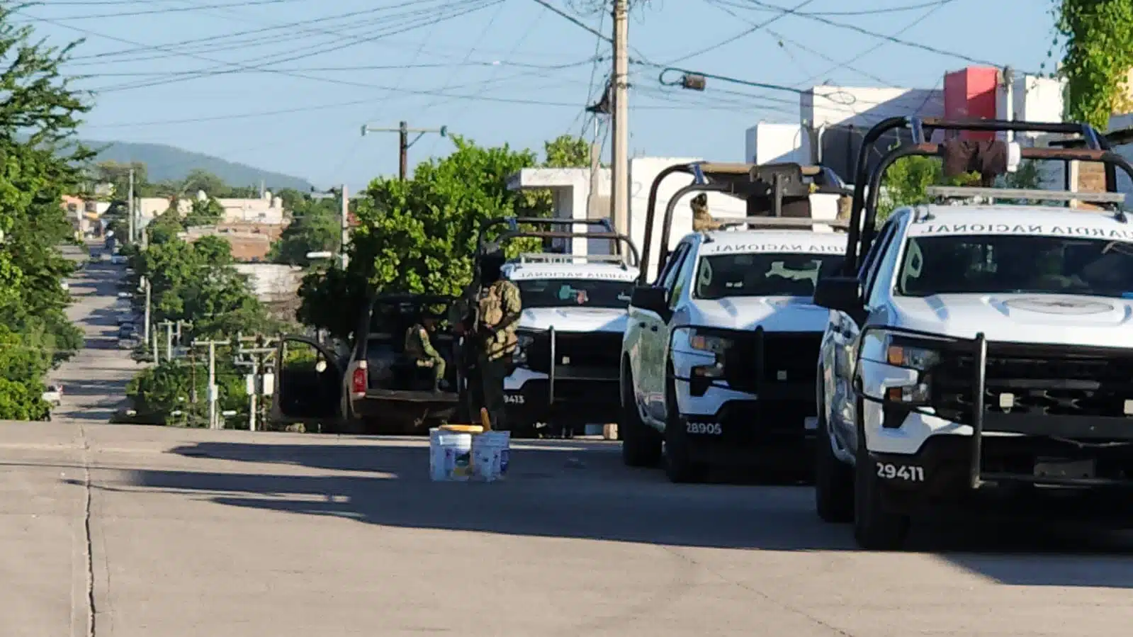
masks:
<svg viewBox="0 0 1133 637"><path fill-rule="evenodd" d="M1063 294L1133 298L1133 243L1082 237L913 237L897 294Z"/></svg>

